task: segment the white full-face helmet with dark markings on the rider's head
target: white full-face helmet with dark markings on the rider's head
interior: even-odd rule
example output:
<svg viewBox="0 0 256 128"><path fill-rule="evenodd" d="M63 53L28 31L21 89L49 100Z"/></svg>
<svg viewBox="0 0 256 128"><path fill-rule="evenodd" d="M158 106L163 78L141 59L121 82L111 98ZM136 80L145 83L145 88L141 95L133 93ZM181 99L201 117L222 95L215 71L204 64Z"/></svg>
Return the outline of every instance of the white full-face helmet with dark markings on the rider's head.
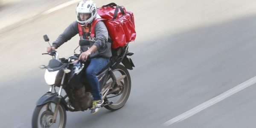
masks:
<svg viewBox="0 0 256 128"><path fill-rule="evenodd" d="M82 17L86 15L85 19ZM87 26L92 23L97 15L96 3L93 0L82 0L76 7L77 22L81 26Z"/></svg>

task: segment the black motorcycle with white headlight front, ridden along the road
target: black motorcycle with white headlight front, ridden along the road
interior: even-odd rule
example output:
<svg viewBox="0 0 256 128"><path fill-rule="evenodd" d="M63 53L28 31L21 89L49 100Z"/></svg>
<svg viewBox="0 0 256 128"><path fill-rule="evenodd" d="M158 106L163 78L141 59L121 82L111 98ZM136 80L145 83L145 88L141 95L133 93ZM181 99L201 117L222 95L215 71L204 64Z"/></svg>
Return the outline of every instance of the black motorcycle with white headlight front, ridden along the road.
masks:
<svg viewBox="0 0 256 128"><path fill-rule="evenodd" d="M44 35L44 40L49 44L47 35ZM80 40L79 46L90 46L92 43L90 40ZM52 56L47 66L40 66L41 69L46 69L44 79L50 88L36 103L32 128L65 128L66 111L85 111L92 108L92 90L84 76L88 62L79 60L80 53L75 50L74 55L68 58L58 58L55 50L43 53ZM128 52L128 43L124 47L111 50L109 63L97 77L104 99L101 107L116 111L125 105L130 95L131 77L128 69L132 70L135 66L128 56L134 53ZM58 91L56 87L59 87Z"/></svg>

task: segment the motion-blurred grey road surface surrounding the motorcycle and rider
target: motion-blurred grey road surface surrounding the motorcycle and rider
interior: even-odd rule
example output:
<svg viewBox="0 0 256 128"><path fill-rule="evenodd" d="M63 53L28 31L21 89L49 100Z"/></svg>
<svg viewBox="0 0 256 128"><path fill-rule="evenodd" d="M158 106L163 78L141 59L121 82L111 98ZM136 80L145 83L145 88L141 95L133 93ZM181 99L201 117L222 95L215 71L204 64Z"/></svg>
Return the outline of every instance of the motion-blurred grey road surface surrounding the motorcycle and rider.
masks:
<svg viewBox="0 0 256 128"><path fill-rule="evenodd" d="M67 4L68 2L68 4ZM134 12L132 89L118 111L67 112L67 128L165 128L163 123L256 76L255 0L95 0ZM65 7L49 13L59 5ZM76 20L79 0L0 0L0 128L31 128L48 91L48 44ZM72 38L57 49L68 57ZM256 86L167 128L255 128Z"/></svg>

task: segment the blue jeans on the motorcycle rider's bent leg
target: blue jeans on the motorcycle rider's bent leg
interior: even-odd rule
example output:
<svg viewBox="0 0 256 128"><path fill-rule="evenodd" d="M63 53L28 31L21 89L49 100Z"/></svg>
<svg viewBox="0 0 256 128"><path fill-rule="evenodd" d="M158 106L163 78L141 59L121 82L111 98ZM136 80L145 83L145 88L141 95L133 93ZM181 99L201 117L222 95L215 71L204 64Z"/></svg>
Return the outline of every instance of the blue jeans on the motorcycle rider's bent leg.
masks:
<svg viewBox="0 0 256 128"><path fill-rule="evenodd" d="M99 88L99 79L96 74L108 64L109 58L89 58L87 61L89 61L90 64L85 70L85 76L93 90L93 100L101 100L102 95Z"/></svg>

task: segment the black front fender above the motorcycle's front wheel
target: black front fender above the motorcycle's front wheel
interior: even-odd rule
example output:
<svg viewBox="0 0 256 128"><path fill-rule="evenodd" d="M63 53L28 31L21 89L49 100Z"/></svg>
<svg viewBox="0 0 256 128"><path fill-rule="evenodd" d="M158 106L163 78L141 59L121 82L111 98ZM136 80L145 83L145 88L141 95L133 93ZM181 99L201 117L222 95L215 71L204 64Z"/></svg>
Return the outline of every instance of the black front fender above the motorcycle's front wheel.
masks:
<svg viewBox="0 0 256 128"><path fill-rule="evenodd" d="M41 96L40 99L36 102L36 105L44 105L48 102L54 102L55 104L58 104L59 101L58 93L52 93L52 92L47 92L43 96ZM65 105L65 100L61 97L61 103ZM66 106L65 106L66 107Z"/></svg>

